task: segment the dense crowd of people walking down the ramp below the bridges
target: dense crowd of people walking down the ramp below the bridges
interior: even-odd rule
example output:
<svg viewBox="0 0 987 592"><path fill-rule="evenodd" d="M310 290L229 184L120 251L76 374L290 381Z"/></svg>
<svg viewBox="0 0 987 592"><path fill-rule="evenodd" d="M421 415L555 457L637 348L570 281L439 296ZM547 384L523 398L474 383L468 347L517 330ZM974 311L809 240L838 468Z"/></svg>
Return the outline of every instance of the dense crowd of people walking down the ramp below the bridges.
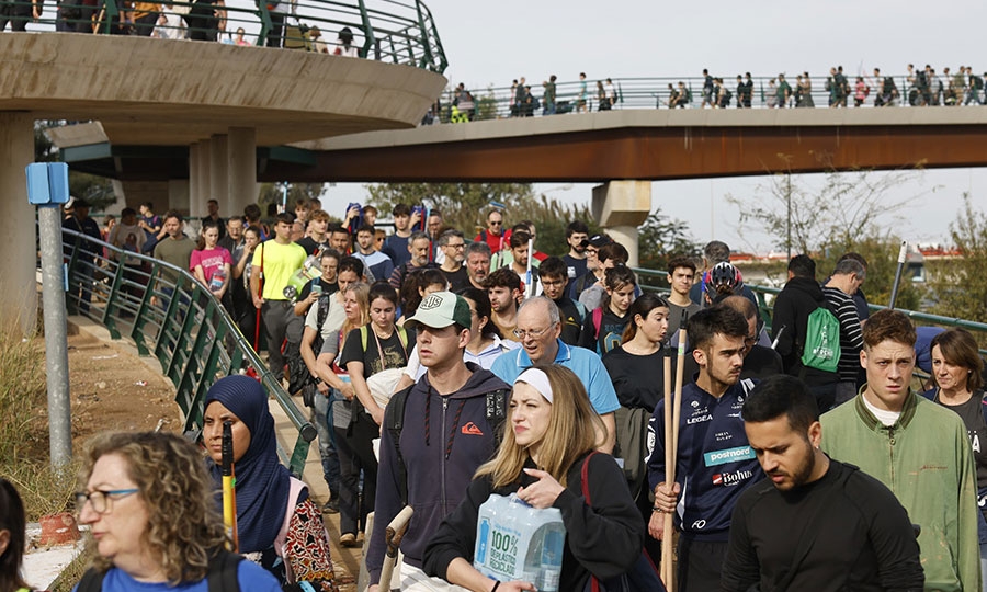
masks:
<svg viewBox="0 0 987 592"><path fill-rule="evenodd" d="M88 226L80 205L66 226ZM473 567L479 505L511 492L561 511L560 590L640 577L637 559L657 562L669 539L668 515L679 590L982 589L984 362L963 329L870 315L861 255L821 282L810 257L792 258L769 335L721 241L699 260L671 257L662 297L642 292L622 244L578 220L548 247L555 257L536 247L535 224L507 228L498 208L470 238L407 204L386 236L373 206L351 204L342 224L307 201L271 225L257 206L245 214L220 219L211 202L196 246L178 213L146 205L113 236L145 232L140 248L194 273L246 335L260 323L271 371L303 391L318 428L321 510L340 513L343 546L370 536L372 590L387 589L385 527L405 505L402 589L532 590ZM320 275L286 296L314 260ZM681 366L667 363L669 345ZM911 389L917 363L924 397ZM667 385L679 380L670 429ZM241 550L281 582L331 589L328 547L304 527L321 524L318 509L277 466L265 401L252 378L217 382L203 444L218 462L219 428L232 423ZM128 462L116 444L95 449L93 475L101 456ZM117 470L127 479L90 476L80 493L94 532L111 503L145 491ZM296 522L305 544L272 544ZM120 578L138 576L107 558Z"/></svg>

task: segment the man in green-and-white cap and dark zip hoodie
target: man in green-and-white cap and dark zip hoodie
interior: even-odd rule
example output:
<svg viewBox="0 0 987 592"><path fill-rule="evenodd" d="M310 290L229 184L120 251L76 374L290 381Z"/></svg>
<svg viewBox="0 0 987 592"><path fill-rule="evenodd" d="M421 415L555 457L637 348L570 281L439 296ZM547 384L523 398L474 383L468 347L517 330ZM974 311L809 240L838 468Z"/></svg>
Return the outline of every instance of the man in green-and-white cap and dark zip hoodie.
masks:
<svg viewBox="0 0 987 592"><path fill-rule="evenodd" d="M415 508L415 517L401 540L401 589L429 580L421 570L426 544L460 504L477 467L494 456L502 421L491 418L488 403L497 403L499 418L506 419L511 388L489 371L463 362L472 312L462 296L426 296L405 327L409 323L417 330L418 355L428 372L410 392L395 395L384 412L374 532L366 553L371 592L381 579L384 531L406 504ZM402 425L409 429L399 432L396 447L392 418L401 403Z"/></svg>

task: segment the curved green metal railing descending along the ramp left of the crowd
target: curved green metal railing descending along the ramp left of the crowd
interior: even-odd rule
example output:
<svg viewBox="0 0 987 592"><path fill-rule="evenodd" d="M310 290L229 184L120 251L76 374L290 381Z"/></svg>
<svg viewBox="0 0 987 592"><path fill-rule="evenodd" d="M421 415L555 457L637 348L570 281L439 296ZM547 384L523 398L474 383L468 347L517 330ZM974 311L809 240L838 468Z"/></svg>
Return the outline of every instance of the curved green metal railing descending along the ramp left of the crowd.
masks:
<svg viewBox="0 0 987 592"><path fill-rule="evenodd" d="M213 383L252 369L298 431L285 464L302 475L315 426L205 286L188 270L72 230L64 229L63 240L69 312L103 325L113 339L129 338L140 355L158 358L174 385L186 434L198 440L203 401Z"/></svg>

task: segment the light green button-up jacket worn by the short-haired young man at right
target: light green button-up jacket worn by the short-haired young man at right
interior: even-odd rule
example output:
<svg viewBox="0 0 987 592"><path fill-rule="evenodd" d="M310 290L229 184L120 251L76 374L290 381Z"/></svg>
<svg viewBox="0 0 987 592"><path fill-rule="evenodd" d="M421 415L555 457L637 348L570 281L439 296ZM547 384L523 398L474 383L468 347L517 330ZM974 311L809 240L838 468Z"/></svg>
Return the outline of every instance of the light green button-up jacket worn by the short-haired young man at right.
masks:
<svg viewBox="0 0 987 592"><path fill-rule="evenodd" d="M960 417L910 392L887 428L861 394L821 421L822 451L887 486L921 526L926 590L980 590L977 476Z"/></svg>

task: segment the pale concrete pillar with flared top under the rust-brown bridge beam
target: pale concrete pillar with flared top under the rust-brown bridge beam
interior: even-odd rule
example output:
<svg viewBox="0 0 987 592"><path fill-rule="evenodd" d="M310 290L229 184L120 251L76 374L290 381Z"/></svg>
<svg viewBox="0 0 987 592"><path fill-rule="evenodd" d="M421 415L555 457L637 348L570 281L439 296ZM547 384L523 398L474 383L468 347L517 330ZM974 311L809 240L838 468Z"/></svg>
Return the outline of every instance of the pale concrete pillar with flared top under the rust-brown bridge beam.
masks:
<svg viewBox="0 0 987 592"><path fill-rule="evenodd" d="M638 265L637 227L651 212L650 181L610 181L593 187L593 217L627 248L627 265Z"/></svg>

